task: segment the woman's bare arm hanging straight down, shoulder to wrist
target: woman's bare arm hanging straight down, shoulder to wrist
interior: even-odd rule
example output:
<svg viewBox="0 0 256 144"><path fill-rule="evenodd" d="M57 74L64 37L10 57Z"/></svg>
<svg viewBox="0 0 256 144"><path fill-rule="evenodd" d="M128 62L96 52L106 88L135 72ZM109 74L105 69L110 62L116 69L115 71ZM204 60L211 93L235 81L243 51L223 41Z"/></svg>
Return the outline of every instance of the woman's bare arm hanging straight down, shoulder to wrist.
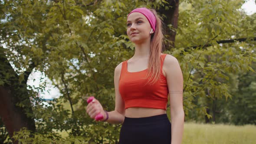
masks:
<svg viewBox="0 0 256 144"><path fill-rule="evenodd" d="M184 131L183 76L174 56L167 55L164 65L171 107L171 144L181 144Z"/></svg>

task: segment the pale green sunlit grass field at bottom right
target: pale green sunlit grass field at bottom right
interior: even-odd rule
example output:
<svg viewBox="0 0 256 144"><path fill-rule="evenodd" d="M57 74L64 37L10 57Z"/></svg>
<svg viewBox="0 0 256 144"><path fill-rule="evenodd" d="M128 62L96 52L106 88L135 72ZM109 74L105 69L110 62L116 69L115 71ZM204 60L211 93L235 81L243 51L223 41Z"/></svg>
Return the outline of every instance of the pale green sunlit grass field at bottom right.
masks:
<svg viewBox="0 0 256 144"><path fill-rule="evenodd" d="M182 144L256 144L256 126L185 123Z"/></svg>

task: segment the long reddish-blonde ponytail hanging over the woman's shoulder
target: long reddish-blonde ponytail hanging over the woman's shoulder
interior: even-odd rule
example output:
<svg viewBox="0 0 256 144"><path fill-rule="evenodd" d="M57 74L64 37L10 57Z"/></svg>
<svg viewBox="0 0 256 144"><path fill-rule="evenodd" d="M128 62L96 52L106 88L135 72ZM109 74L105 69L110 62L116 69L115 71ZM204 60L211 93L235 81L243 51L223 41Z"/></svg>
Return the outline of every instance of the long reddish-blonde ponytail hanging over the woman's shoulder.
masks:
<svg viewBox="0 0 256 144"><path fill-rule="evenodd" d="M163 29L162 29L162 21L159 18L156 10L149 9L154 16L156 17L156 29L154 33L151 35L151 44L150 44L150 56L149 56L149 62L148 62L148 73L146 75L146 78L149 81L151 81L151 84L154 84L155 82L160 79L161 74L161 52L163 48Z"/></svg>

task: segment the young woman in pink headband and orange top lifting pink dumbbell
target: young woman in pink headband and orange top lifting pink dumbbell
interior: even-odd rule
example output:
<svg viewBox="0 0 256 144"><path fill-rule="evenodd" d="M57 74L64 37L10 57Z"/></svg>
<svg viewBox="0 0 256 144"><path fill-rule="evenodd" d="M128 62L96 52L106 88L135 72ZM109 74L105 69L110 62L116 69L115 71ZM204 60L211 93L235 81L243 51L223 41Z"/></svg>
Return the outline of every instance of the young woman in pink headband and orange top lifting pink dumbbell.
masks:
<svg viewBox="0 0 256 144"><path fill-rule="evenodd" d="M181 144L184 128L183 76L176 58L163 54L161 20L155 10L137 8L127 17L135 54L115 68L115 110L94 99L86 112L122 124L119 144ZM166 108L170 98L171 122Z"/></svg>

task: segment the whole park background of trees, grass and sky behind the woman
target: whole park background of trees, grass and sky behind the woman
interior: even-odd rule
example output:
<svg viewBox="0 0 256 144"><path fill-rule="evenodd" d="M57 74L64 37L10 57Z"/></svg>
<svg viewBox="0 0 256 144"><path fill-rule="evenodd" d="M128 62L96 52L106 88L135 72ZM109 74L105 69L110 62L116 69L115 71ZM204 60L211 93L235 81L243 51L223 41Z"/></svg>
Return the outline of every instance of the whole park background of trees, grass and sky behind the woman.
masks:
<svg viewBox="0 0 256 144"><path fill-rule="evenodd" d="M127 14L148 7L183 72L183 144L255 144L256 13L244 3L1 0L0 143L117 144L121 125L93 121L86 99L114 110L114 69L134 53Z"/></svg>

